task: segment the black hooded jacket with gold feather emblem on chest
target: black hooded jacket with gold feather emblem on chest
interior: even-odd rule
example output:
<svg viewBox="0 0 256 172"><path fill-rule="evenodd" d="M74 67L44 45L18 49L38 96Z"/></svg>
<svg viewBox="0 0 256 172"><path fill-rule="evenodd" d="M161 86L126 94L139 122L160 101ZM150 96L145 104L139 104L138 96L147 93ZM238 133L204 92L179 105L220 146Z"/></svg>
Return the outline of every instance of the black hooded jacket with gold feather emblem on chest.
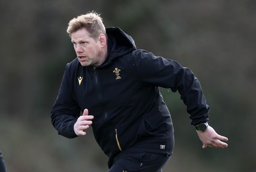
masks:
<svg viewBox="0 0 256 172"><path fill-rule="evenodd" d="M173 125L159 87L177 90L187 105L191 124L208 120L200 83L176 61L136 49L121 29L106 29L108 57L93 70L77 59L68 63L58 97L51 111L59 134L74 138L74 124L84 108L93 119L93 133L100 148L113 157L129 147L171 155Z"/></svg>

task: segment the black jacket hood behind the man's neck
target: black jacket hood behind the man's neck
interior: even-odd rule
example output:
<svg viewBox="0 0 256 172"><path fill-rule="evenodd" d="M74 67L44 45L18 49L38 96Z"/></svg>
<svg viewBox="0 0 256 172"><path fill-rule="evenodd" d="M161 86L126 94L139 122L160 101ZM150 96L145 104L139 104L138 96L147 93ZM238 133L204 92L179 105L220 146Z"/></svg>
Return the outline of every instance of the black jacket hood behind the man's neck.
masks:
<svg viewBox="0 0 256 172"><path fill-rule="evenodd" d="M118 27L106 28L108 36L108 62L136 49L131 36ZM107 62L107 63L108 63Z"/></svg>

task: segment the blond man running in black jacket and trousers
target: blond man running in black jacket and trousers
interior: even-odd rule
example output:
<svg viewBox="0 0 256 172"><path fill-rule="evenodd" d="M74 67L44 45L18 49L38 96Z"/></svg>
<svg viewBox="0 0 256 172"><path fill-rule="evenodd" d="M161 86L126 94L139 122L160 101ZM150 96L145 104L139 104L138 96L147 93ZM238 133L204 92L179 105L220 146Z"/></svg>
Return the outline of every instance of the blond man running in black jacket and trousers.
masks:
<svg viewBox="0 0 256 172"><path fill-rule="evenodd" d="M91 125L109 172L162 171L172 155L172 119L159 87L179 91L203 148L227 147L207 124L209 106L190 69L136 49L131 36L105 29L95 12L70 20L67 32L77 58L66 66L52 124L67 138L86 135Z"/></svg>

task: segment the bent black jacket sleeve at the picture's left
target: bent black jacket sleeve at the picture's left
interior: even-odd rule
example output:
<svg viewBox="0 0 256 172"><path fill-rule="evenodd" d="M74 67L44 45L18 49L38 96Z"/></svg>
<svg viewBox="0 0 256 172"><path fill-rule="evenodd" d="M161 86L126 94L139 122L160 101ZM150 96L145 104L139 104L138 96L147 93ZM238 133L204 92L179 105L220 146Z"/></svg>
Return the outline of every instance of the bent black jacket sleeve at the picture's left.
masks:
<svg viewBox="0 0 256 172"><path fill-rule="evenodd" d="M51 110L51 122L58 134L67 138L75 138L74 124L80 115L79 106L72 94L68 64L63 75L58 96Z"/></svg>

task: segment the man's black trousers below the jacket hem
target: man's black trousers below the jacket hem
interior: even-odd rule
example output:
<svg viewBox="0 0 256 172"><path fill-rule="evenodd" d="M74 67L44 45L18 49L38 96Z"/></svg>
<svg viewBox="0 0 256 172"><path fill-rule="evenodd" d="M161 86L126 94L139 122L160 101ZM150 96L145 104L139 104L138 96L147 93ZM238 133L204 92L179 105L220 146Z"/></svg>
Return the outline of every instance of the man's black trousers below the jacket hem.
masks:
<svg viewBox="0 0 256 172"><path fill-rule="evenodd" d="M114 159L108 172L162 172L170 159L167 154L145 152L139 148L124 150Z"/></svg>

